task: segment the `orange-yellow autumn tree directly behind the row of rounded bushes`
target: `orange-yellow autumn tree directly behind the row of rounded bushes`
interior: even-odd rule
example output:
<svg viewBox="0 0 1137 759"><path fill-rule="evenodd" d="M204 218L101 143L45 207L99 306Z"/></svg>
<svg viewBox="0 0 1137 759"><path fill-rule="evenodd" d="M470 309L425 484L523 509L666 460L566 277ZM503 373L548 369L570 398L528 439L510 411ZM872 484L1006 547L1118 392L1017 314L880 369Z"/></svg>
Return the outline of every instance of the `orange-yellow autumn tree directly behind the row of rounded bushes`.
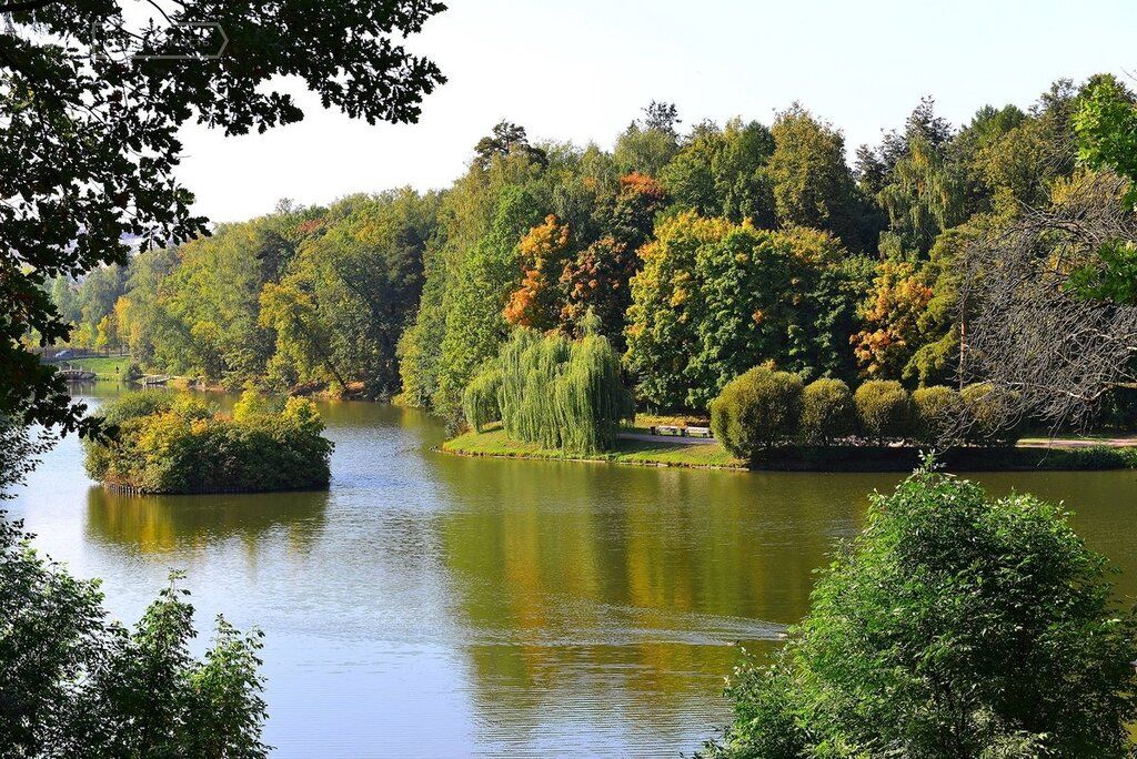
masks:
<svg viewBox="0 0 1137 759"><path fill-rule="evenodd" d="M920 317L932 295L924 273L908 261L886 260L861 309L866 325L849 339L865 376L898 378L920 347Z"/></svg>

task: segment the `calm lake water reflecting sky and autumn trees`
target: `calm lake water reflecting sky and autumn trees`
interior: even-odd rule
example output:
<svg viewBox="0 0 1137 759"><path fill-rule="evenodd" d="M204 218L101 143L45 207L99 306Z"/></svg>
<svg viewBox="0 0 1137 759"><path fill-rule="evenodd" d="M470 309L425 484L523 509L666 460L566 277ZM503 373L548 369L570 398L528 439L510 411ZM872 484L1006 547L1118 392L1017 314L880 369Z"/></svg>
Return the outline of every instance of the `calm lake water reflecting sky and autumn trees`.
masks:
<svg viewBox="0 0 1137 759"><path fill-rule="evenodd" d="M321 410L326 493L115 495L68 439L7 507L119 619L176 568L204 633L264 629L282 758L690 754L730 719L737 645L775 644L898 479L466 459L424 414ZM1137 592L1137 473L979 478L1065 500Z"/></svg>

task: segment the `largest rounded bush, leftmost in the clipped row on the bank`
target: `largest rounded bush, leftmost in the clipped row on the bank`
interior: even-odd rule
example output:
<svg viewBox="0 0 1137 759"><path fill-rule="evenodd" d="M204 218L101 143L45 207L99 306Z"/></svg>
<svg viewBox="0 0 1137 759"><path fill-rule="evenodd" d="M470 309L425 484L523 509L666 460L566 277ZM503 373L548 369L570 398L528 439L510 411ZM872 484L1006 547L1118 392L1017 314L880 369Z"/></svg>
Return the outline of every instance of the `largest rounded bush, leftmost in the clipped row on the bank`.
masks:
<svg viewBox="0 0 1137 759"><path fill-rule="evenodd" d="M796 374L754 367L711 401L711 429L731 453L753 460L762 449L797 433L802 393Z"/></svg>

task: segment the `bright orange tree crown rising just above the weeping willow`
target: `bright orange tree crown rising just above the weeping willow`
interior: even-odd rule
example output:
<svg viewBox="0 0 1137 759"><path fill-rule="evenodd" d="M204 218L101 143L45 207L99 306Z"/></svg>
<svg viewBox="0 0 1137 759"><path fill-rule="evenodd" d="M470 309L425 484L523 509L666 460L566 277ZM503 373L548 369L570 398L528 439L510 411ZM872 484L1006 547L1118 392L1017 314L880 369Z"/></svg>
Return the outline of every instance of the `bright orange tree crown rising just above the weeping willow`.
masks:
<svg viewBox="0 0 1137 759"><path fill-rule="evenodd" d="M521 286L509 297L503 315L511 325L553 330L561 314L561 273L568 249L568 225L549 214L517 243Z"/></svg>

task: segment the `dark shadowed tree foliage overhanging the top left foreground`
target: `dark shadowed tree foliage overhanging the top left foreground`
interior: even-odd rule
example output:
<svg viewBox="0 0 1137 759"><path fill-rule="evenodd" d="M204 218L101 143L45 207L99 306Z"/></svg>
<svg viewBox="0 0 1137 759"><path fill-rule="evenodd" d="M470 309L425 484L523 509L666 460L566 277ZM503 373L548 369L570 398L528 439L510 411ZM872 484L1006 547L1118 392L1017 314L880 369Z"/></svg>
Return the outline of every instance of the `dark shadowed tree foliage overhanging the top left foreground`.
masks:
<svg viewBox="0 0 1137 759"><path fill-rule="evenodd" d="M185 123L246 134L298 122L301 109L279 89L291 80L349 116L413 122L445 80L400 39L442 8L188 1L134 23L117 2L0 5L9 19L0 32L0 185L9 200L0 300L22 303L0 315L0 414L86 426L63 378L22 339L32 332L50 344L70 332L43 289L49 280L124 265L128 235L151 247L205 231L175 180ZM222 30L225 55L201 60L221 48Z"/></svg>

